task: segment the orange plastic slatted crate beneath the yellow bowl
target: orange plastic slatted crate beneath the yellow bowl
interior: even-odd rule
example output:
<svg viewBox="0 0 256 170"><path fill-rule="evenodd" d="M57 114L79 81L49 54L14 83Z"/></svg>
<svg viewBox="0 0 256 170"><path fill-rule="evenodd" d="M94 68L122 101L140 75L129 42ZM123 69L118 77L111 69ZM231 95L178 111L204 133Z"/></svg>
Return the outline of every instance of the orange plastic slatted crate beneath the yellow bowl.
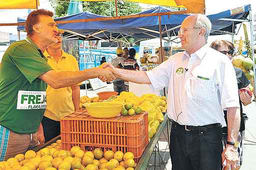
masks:
<svg viewBox="0 0 256 170"><path fill-rule="evenodd" d="M60 120L62 149L78 145L84 151L95 148L132 152L135 162L148 144L147 112L133 116L95 118L82 108Z"/></svg>

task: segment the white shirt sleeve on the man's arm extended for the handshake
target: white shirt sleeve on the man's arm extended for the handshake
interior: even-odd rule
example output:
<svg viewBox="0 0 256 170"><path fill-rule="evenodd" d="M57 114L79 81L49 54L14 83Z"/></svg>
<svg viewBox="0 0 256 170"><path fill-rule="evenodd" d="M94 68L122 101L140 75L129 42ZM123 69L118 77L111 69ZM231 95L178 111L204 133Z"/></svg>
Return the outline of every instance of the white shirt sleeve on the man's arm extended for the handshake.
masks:
<svg viewBox="0 0 256 170"><path fill-rule="evenodd" d="M162 62L157 67L154 67L152 70L145 72L151 82L153 90L159 90L168 86L171 74L171 58Z"/></svg>

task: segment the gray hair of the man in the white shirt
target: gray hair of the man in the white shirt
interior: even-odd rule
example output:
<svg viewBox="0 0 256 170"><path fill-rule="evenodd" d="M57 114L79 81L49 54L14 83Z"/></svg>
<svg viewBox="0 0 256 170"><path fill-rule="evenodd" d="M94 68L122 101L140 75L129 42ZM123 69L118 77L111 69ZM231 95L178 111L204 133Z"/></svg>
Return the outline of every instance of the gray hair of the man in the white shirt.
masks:
<svg viewBox="0 0 256 170"><path fill-rule="evenodd" d="M205 41L207 41L208 36L210 34L210 30L211 30L211 22L210 22L209 18L200 13L192 14L192 15L196 16L195 27L204 27L205 28L204 38L205 38Z"/></svg>

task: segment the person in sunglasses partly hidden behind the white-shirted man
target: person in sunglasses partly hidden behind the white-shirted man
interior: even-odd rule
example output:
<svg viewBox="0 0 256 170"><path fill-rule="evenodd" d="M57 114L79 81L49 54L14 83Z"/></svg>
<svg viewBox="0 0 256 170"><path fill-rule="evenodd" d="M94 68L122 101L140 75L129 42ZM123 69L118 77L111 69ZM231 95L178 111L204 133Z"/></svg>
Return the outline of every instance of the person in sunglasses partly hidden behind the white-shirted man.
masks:
<svg viewBox="0 0 256 170"><path fill-rule="evenodd" d="M226 40L215 40L210 44L210 47L225 54L229 59L232 59L233 53L234 53L234 46L232 42L226 41ZM240 68L234 67L235 74L236 74L236 80L237 80L237 85L238 89L241 88L248 88L248 85L250 81L247 79L245 76L244 72ZM239 104L240 104L240 128L239 128L239 137L238 137L238 154L239 154L239 163L238 165L241 166L242 163L242 152L243 152L243 137L244 137L244 117L242 113L242 104L243 105L248 105L252 101L252 96L249 96L249 94L246 91L240 91L239 90ZM227 116L226 116L226 109L224 111L224 118L227 124ZM227 128L223 127L223 139L224 139L224 144L226 145L227 142Z"/></svg>

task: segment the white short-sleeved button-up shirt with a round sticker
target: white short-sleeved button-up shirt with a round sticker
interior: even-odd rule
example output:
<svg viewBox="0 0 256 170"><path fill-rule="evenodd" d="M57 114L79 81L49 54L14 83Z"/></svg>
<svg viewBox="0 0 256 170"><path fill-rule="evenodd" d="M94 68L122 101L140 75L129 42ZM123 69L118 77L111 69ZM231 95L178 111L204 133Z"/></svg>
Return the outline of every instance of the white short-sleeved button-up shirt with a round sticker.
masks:
<svg viewBox="0 0 256 170"><path fill-rule="evenodd" d="M167 114L179 124L226 126L223 108L239 107L230 60L205 45L190 55L178 52L146 74L154 90L168 86Z"/></svg>

